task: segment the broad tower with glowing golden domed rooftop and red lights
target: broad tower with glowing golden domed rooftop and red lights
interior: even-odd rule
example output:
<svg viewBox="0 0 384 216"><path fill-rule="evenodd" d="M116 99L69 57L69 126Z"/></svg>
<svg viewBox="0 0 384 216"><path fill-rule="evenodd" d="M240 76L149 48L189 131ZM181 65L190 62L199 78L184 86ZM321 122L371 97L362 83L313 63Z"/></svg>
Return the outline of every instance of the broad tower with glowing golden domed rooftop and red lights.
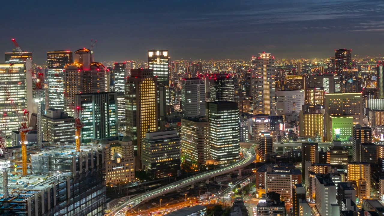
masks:
<svg viewBox="0 0 384 216"><path fill-rule="evenodd" d="M93 60L93 51L86 48L74 52L74 62L64 66L63 83L67 99L74 105L76 94L106 91L106 69ZM74 110L67 106L66 113L74 116Z"/></svg>

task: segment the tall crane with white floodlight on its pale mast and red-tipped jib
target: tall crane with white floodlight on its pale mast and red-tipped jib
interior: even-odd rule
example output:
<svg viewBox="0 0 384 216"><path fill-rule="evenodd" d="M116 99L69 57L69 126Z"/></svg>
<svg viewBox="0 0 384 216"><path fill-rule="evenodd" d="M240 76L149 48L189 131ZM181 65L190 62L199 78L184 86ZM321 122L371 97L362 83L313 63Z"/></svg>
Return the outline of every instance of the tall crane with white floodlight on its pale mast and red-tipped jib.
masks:
<svg viewBox="0 0 384 216"><path fill-rule="evenodd" d="M23 51L16 42L15 39L12 39L13 44L15 45L15 48L20 56L23 55ZM42 93L43 93L43 85L44 82L44 75L43 73L37 73L36 75L33 73L32 70L32 60L30 58L27 58L25 61L25 70L27 73L29 73L32 77L33 82L35 83L35 102L37 106L37 144L39 148L41 149L43 145L42 140L42 134L41 134L41 101L42 101ZM29 113L28 113L29 115ZM28 119L27 119L28 120ZM24 140L25 141L25 140ZM22 140L23 142L23 140Z"/></svg>

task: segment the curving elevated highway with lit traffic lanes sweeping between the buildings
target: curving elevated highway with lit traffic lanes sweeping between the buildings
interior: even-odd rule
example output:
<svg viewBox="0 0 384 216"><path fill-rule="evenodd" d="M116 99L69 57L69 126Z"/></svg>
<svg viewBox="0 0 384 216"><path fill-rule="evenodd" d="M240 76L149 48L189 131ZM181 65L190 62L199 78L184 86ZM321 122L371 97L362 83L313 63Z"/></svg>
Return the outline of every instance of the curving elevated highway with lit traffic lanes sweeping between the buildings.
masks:
<svg viewBox="0 0 384 216"><path fill-rule="evenodd" d="M192 184L198 183L200 181L204 181L206 179L213 178L215 176L222 175L224 173L228 173L231 171L235 171L237 169L243 168L245 166L248 166L256 159L256 154L254 148L250 148L249 150L243 149L244 157L240 160L236 161L235 163L229 164L228 166L225 166L223 168L213 169L211 171L206 171L204 173L196 174L194 176L190 176L188 178L182 179L180 181L176 181L172 184L168 184L166 186L162 186L161 188L154 189L152 191L148 191L146 193L139 194L137 196L132 197L125 203L123 203L121 206L115 208L110 213L106 214L108 216L120 216L124 215L125 211L127 211L130 208L134 208L140 203L143 203L145 201L157 198L159 196L162 196L164 194L170 193L172 191L177 191L178 189L185 188L187 186L190 186ZM120 212L122 210L122 212Z"/></svg>

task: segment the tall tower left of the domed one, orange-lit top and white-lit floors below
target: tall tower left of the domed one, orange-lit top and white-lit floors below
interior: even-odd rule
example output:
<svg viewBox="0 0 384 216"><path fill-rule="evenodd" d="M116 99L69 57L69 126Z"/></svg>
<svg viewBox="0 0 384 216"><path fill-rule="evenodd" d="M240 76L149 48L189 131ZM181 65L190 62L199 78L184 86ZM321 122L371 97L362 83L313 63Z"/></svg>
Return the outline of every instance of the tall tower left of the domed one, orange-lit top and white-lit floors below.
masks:
<svg viewBox="0 0 384 216"><path fill-rule="evenodd" d="M73 62L72 52L70 51L53 51L47 52L47 84L48 84L48 101L46 107L64 110L66 101L64 97L64 66Z"/></svg>

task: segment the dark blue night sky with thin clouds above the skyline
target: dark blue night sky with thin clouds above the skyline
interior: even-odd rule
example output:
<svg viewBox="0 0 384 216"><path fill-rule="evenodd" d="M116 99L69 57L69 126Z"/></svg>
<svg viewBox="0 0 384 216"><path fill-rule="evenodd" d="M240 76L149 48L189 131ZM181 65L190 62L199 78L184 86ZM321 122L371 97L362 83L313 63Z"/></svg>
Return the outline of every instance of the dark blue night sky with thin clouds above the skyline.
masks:
<svg viewBox="0 0 384 216"><path fill-rule="evenodd" d="M384 48L382 0L11 0L1 7L0 52L12 51L15 38L38 64L47 51L89 48L91 38L96 61L145 60L149 49L167 49L176 60L263 51L322 58L339 48L379 56Z"/></svg>

